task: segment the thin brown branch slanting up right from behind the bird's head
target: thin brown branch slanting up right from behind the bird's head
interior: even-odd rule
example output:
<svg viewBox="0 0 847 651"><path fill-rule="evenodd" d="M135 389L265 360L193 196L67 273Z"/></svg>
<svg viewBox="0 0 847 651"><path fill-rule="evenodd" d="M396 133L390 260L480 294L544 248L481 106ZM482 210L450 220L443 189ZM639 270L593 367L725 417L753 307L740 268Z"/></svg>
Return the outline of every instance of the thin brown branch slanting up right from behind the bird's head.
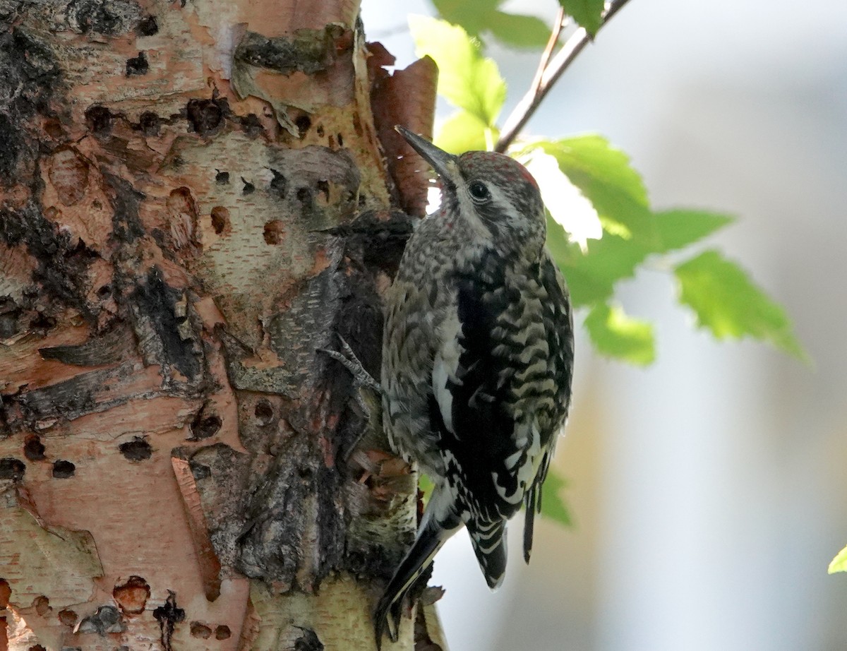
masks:
<svg viewBox="0 0 847 651"><path fill-rule="evenodd" d="M600 27L597 28L599 32L603 25L609 22L612 19L612 16L617 14L617 12L623 8L623 5L628 3L629 0L612 0L609 3L609 7L606 9L606 13L603 14L603 19L601 21ZM561 21L559 22L561 25ZM556 28L554 27L554 31ZM543 72L541 75L537 75L536 79L540 76L540 80L538 83L533 83L533 86L529 89L526 95L523 96L520 102L518 102L518 106L512 110L512 114L506 120L506 123L503 125L503 129L500 133L500 140L497 142L497 147L495 148L496 152L503 153L507 150L509 145L512 144L515 137L518 136L518 133L523 129L529 119L535 113L535 110L538 109L541 101L546 97L547 93L550 92L550 89L553 85L558 81L559 77L562 76L562 73L567 70L567 67L573 63L573 60L577 58L580 52L583 51L584 47L588 45L589 42L593 41L593 38L589 36L588 32L585 31L584 27L580 27L577 31L574 31L573 34L567 39L565 44L562 46L562 49L556 53L556 56L553 57L549 64L545 65Z"/></svg>

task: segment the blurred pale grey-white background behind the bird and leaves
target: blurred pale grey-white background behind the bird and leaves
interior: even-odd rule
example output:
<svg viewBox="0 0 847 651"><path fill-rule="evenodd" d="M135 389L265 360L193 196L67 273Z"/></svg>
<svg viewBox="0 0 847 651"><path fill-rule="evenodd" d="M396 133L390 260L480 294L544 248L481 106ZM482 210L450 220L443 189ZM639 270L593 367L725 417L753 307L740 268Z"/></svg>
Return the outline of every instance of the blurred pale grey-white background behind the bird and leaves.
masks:
<svg viewBox="0 0 847 651"><path fill-rule="evenodd" d="M505 9L551 23L556 2ZM407 14L433 12L363 0L400 67ZM502 120L539 54L490 56ZM528 568L516 520L494 594L466 534L447 544L434 582L451 651L847 649L847 576L827 575L847 544L847 3L633 0L525 133L586 131L632 157L657 209L739 217L709 243L783 303L814 367L692 330L669 274L625 283L658 360L606 361L578 333L556 455L575 526L542 518Z"/></svg>

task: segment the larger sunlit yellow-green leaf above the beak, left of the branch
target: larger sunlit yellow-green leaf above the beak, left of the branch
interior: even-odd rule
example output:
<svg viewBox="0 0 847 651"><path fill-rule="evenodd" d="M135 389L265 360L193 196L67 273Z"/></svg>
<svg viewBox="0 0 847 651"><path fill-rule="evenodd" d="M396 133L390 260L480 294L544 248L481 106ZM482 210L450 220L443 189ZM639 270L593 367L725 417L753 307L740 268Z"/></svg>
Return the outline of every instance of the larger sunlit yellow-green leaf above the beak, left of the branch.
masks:
<svg viewBox="0 0 847 651"><path fill-rule="evenodd" d="M459 109L493 126L506 99L506 82L497 64L484 58L479 44L457 25L428 16L409 16L419 57L438 65L438 92Z"/></svg>

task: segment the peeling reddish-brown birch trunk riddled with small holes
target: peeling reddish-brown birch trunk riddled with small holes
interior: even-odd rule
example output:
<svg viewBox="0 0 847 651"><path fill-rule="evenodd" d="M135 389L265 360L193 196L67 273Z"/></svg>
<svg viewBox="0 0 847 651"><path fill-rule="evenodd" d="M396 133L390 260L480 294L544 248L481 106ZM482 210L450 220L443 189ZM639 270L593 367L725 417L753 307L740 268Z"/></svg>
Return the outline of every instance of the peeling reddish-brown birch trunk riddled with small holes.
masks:
<svg viewBox="0 0 847 651"><path fill-rule="evenodd" d="M415 482L319 349L378 373L434 65L356 0L0 21L0 649L373 649Z"/></svg>

